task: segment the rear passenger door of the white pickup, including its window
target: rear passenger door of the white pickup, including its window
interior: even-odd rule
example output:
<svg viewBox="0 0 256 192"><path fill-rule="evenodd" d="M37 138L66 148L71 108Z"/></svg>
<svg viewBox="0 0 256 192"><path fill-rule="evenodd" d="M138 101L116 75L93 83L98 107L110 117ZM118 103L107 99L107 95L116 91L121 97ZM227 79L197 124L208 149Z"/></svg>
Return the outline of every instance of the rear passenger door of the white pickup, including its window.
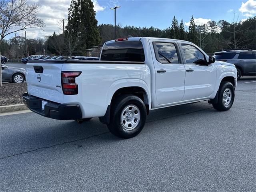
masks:
<svg viewBox="0 0 256 192"><path fill-rule="evenodd" d="M185 67L176 41L150 40L157 105L179 102L184 96Z"/></svg>

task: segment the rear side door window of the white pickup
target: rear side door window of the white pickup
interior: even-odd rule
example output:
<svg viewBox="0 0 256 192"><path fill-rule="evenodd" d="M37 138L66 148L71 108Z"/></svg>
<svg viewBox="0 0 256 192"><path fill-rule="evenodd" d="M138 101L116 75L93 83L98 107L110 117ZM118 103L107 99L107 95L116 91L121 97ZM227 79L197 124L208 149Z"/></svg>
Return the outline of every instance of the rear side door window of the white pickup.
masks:
<svg viewBox="0 0 256 192"><path fill-rule="evenodd" d="M156 42L156 59L163 64L178 64L178 54L173 43Z"/></svg>

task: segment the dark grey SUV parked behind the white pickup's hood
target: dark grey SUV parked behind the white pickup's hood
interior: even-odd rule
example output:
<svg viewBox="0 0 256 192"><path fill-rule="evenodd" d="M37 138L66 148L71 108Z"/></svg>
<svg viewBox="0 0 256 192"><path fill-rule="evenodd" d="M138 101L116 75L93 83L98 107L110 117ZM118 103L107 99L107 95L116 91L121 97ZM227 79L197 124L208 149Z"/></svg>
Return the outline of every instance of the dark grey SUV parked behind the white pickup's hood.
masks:
<svg viewBox="0 0 256 192"><path fill-rule="evenodd" d="M244 75L256 75L256 50L221 50L214 53L214 57L218 61L234 64L237 69L237 79Z"/></svg>

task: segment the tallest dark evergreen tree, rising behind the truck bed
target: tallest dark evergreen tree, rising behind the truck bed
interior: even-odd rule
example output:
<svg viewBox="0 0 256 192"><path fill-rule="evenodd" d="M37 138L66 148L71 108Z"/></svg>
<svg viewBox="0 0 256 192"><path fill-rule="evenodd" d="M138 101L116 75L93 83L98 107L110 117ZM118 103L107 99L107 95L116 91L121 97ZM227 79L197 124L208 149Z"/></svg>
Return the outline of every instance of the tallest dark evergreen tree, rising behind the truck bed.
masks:
<svg viewBox="0 0 256 192"><path fill-rule="evenodd" d="M72 0L68 9L68 25L66 30L72 30L79 35L77 54L84 54L86 48L101 42L100 32L95 18L96 12L91 0Z"/></svg>

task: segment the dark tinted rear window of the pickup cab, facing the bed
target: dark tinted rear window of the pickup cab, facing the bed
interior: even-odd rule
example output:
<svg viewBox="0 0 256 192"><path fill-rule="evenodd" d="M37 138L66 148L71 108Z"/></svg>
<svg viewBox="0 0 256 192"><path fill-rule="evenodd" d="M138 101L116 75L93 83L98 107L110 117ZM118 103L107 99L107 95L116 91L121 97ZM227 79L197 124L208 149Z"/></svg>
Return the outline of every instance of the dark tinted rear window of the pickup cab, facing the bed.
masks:
<svg viewBox="0 0 256 192"><path fill-rule="evenodd" d="M100 60L144 62L145 54L141 41L110 42L103 46Z"/></svg>

